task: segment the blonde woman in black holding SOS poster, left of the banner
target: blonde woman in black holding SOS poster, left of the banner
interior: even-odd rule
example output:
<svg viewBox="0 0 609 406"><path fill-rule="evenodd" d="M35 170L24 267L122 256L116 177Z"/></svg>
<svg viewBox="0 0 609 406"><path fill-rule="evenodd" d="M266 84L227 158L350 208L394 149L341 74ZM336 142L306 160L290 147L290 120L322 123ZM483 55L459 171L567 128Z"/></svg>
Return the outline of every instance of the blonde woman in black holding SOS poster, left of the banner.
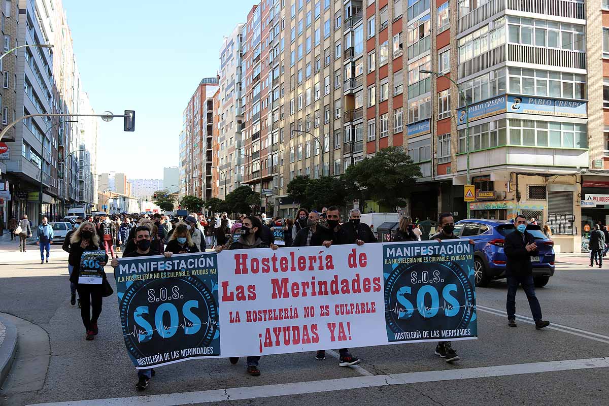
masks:
<svg viewBox="0 0 609 406"><path fill-rule="evenodd" d="M104 250L99 245L99 236L96 233L95 225L91 222L82 223L72 236L70 237L70 251L68 264L72 265L72 275L70 282L76 284L80 298L80 317L86 329L86 340L93 340L97 335L97 319L102 313L102 284L81 284L79 283L80 276L80 259L86 251ZM108 262L108 254L105 254L105 259L99 262L102 267L102 276L105 279L106 273L104 265ZM93 314L91 314L93 309Z"/></svg>

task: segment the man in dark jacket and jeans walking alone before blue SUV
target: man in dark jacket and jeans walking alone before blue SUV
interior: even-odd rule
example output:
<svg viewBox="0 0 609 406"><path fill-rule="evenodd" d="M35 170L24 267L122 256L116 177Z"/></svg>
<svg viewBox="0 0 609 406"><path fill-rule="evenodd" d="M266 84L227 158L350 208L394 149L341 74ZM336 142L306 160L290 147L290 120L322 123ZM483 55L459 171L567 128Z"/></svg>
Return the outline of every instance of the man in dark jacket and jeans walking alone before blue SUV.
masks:
<svg viewBox="0 0 609 406"><path fill-rule="evenodd" d="M523 285L524 293L529 300L535 328L543 329L550 325L549 321L541 320L541 306L535 296L533 283L533 268L531 256L538 256L537 244L533 236L527 233L527 219L524 215L517 215L514 220L516 231L505 237L504 252L507 256L505 276L507 277L507 324L516 327L516 290Z"/></svg>

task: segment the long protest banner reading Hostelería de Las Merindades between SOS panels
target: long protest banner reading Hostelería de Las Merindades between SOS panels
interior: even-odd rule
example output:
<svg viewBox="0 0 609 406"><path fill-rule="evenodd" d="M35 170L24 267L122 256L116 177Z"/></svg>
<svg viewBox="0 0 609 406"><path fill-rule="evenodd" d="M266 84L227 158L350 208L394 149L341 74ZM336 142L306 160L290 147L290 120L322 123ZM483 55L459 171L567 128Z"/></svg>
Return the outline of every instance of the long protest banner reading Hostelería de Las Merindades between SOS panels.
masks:
<svg viewBox="0 0 609 406"><path fill-rule="evenodd" d="M135 257L114 275L140 369L477 336L464 240Z"/></svg>

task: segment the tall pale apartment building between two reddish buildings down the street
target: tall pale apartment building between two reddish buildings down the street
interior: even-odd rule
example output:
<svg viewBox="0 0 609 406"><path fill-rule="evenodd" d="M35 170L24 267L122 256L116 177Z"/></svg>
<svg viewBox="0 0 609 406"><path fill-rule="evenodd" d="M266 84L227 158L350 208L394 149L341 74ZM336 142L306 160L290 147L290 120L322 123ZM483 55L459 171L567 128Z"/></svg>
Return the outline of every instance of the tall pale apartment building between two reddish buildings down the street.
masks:
<svg viewBox="0 0 609 406"><path fill-rule="evenodd" d="M214 110L212 195L224 198L241 186L243 175L242 139L242 30L237 24L220 48L220 86ZM214 121L216 118L214 117Z"/></svg>

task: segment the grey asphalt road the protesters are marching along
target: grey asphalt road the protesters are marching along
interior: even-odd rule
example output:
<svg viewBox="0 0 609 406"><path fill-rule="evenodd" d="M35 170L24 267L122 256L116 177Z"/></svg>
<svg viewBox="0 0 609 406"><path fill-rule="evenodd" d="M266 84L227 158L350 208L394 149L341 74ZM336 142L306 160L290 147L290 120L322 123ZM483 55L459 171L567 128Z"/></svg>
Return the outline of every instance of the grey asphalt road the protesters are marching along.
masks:
<svg viewBox="0 0 609 406"><path fill-rule="evenodd" d="M609 404L608 270L560 265L537 290L554 327L541 331L525 318L517 329L507 326L505 282L477 289L479 339L454 343L462 360L452 365L432 343L352 349L361 369L339 368L332 357L319 362L314 353L270 355L260 377L245 374L244 360L193 360L158 368L138 393L116 298L104 299L100 334L85 341L79 309L69 304L65 257L40 265L35 254L27 262L0 259L0 312L19 318L24 332L2 405ZM530 317L521 290L516 313Z"/></svg>

